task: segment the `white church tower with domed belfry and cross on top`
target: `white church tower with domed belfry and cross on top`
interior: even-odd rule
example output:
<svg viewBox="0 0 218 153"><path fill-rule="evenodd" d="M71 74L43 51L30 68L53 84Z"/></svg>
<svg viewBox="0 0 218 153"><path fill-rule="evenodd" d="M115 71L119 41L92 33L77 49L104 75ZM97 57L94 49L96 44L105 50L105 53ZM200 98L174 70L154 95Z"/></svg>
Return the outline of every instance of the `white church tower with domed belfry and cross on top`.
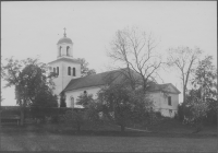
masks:
<svg viewBox="0 0 218 153"><path fill-rule="evenodd" d="M73 42L66 37L65 28L63 37L57 43L57 59L48 64L50 72L58 75L53 79L56 95L59 95L72 79L81 78L81 63L73 58Z"/></svg>

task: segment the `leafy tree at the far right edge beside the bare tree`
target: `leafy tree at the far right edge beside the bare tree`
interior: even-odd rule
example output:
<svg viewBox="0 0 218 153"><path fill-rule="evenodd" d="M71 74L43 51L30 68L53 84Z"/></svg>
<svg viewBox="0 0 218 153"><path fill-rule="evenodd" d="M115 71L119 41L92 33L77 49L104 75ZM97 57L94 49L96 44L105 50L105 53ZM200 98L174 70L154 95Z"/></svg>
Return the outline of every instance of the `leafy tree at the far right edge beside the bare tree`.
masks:
<svg viewBox="0 0 218 153"><path fill-rule="evenodd" d="M193 89L187 94L191 122L196 127L195 132L202 129L203 120L217 114L217 70L211 63L213 57L206 56L198 62L192 80Z"/></svg>

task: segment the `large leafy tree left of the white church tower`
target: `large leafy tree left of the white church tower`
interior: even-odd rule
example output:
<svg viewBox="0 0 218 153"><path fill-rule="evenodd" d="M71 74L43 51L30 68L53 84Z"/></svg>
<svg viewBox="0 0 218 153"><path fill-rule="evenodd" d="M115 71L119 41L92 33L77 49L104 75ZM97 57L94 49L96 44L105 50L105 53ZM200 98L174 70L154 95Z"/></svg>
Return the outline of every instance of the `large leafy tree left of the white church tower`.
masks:
<svg viewBox="0 0 218 153"><path fill-rule="evenodd" d="M56 105L56 97L51 94L53 87L51 78L55 74L47 73L48 67L45 63L31 58L25 60L10 58L7 61L8 63L2 67L2 76L7 81L5 87L15 86L16 103L21 106L21 125L24 122L26 106L36 105L41 99L44 103L50 103L50 98ZM43 96L41 93L48 95Z"/></svg>

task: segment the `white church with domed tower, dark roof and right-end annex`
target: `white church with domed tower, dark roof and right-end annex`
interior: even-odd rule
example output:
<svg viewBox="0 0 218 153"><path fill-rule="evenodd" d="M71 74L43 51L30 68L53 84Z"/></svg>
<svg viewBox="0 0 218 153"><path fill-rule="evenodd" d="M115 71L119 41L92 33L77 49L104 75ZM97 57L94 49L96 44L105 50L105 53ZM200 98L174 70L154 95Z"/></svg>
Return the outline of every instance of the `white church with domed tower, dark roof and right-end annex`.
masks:
<svg viewBox="0 0 218 153"><path fill-rule="evenodd" d="M93 94L93 97L97 98L97 93L106 85L104 78L109 73L82 76L81 63L73 57L73 42L66 37L65 31L63 37L57 43L57 59L48 64L50 72L58 74L53 79L53 93L60 95L61 92L64 92L66 107L72 108L82 108L76 105L76 98L83 93ZM171 83L149 86L154 109L164 116L173 117L178 113L179 94L180 91Z"/></svg>

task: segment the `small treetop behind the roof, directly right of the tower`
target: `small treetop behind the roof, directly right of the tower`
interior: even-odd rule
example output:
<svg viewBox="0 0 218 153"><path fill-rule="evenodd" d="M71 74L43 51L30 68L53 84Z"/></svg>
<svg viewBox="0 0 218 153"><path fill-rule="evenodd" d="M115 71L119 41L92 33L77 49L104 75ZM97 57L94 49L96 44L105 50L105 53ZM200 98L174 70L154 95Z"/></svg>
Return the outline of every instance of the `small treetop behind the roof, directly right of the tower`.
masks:
<svg viewBox="0 0 218 153"><path fill-rule="evenodd" d="M96 71L94 69L88 69L88 62L86 62L84 58L77 58L76 60L81 63L81 75L82 76L96 74Z"/></svg>

